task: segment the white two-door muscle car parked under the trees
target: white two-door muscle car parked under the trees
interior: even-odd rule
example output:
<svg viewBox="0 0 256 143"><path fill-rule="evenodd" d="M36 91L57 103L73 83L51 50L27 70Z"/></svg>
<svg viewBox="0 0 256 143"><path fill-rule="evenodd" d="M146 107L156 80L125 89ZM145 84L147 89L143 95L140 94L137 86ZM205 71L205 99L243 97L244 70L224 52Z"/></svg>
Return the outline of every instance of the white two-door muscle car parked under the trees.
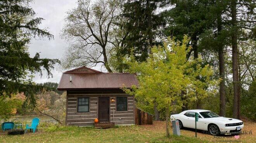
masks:
<svg viewBox="0 0 256 143"><path fill-rule="evenodd" d="M183 127L195 129L195 113L198 113L197 129L207 131L211 135L239 134L244 124L239 119L220 117L209 110L187 110L171 115L171 120L178 120L180 129Z"/></svg>

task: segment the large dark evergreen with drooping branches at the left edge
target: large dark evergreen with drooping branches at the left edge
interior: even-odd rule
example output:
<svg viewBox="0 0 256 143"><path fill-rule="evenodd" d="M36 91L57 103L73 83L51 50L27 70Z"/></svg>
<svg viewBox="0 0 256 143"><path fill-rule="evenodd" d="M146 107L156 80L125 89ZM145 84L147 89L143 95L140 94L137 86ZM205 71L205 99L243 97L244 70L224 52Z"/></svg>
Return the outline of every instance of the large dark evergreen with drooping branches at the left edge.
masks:
<svg viewBox="0 0 256 143"><path fill-rule="evenodd" d="M59 61L42 59L39 53L30 57L31 37L52 39L54 36L38 28L43 19L34 18L35 12L28 6L29 2L31 0L0 0L0 96L23 92L35 105L34 93L42 86L36 86L26 77L29 72L40 72L42 76L42 68L50 77L50 70Z"/></svg>

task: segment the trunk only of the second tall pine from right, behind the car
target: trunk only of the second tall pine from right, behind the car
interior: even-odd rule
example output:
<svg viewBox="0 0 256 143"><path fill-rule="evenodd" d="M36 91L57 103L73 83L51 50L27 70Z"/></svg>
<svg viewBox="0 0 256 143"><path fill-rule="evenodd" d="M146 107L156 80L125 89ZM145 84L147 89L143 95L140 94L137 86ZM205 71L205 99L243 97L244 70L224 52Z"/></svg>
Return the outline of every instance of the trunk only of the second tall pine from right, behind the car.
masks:
<svg viewBox="0 0 256 143"><path fill-rule="evenodd" d="M218 36L222 30L221 12L217 15ZM226 98L225 98L225 68L224 68L224 52L223 43L218 43L219 68L220 68L220 116L226 116Z"/></svg>

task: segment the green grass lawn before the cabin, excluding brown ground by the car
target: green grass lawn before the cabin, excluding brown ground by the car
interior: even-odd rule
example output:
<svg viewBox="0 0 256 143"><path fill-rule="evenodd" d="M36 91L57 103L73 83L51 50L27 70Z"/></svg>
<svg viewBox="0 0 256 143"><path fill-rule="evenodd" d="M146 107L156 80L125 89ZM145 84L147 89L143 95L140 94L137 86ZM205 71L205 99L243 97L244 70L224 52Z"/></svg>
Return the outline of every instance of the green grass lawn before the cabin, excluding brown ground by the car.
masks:
<svg viewBox="0 0 256 143"><path fill-rule="evenodd" d="M151 125L152 127L156 127ZM25 135L6 135L0 133L0 142L206 142L200 139L171 136L165 137L164 130L154 129L151 126L119 126L109 129L95 129L88 127L50 127L43 128L36 133L25 133ZM47 130L48 129L48 130Z"/></svg>

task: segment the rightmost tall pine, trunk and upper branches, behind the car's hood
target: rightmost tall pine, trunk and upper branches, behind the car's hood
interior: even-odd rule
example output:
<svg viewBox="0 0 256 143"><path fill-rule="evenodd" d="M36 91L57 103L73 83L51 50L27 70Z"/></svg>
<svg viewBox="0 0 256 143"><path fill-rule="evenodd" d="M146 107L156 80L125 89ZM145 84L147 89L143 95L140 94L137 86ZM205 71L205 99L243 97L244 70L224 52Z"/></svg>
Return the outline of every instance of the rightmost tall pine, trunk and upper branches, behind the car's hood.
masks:
<svg viewBox="0 0 256 143"><path fill-rule="evenodd" d="M233 117L240 118L240 79L239 79L239 48L238 40L246 39L241 36L242 29L255 32L255 1L253 0L231 0L231 46L232 46L232 72L234 86ZM254 31L253 31L254 30ZM255 37L254 37L255 38Z"/></svg>

